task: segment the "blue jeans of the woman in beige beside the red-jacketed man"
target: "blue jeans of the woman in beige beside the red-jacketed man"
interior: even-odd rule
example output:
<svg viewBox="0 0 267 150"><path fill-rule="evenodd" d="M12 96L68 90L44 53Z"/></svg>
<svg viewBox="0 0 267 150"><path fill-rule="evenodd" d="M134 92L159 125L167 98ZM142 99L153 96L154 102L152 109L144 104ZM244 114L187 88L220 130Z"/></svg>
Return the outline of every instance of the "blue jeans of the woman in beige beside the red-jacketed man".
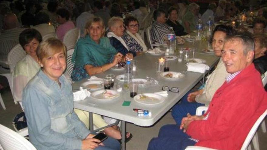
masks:
<svg viewBox="0 0 267 150"><path fill-rule="evenodd" d="M181 103L175 104L171 110L171 115L177 125L181 125L181 120L183 117L187 116L187 113L190 113L191 115L196 115L197 108L199 106L204 106L204 104L201 103L187 101L187 97L191 92L193 91L187 92L181 99Z"/></svg>

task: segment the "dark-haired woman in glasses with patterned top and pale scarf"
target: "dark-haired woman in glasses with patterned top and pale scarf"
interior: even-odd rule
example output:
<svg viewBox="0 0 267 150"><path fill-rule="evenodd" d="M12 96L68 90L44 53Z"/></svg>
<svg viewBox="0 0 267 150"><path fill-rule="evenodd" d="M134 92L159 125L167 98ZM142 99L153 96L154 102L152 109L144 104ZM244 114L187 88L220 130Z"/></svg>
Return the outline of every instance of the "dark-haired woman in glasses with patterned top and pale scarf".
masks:
<svg viewBox="0 0 267 150"><path fill-rule="evenodd" d="M145 52L147 51L147 46L139 35L139 24L137 18L133 16L127 17L125 19L126 33L122 36L124 42L126 43L129 51Z"/></svg>

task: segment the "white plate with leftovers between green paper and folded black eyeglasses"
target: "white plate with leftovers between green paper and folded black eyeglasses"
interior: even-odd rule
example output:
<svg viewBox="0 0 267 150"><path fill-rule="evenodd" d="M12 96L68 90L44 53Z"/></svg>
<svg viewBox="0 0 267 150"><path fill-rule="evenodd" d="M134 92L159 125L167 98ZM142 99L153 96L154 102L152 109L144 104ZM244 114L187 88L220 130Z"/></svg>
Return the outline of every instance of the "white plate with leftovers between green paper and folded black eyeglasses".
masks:
<svg viewBox="0 0 267 150"><path fill-rule="evenodd" d="M164 102L164 97L154 93L143 93L134 96L137 103L144 105L156 105Z"/></svg>

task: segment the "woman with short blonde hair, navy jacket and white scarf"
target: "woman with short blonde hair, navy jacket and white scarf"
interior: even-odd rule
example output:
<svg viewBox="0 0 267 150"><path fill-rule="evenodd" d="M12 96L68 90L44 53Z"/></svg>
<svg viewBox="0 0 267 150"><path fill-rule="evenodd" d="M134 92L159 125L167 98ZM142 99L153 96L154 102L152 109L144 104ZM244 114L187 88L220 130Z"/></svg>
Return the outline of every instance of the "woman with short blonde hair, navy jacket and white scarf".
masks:
<svg viewBox="0 0 267 150"><path fill-rule="evenodd" d="M110 32L107 33L107 37L110 39L110 44L123 55L123 61L125 59L133 59L136 56L136 52L130 51L129 47L123 41L122 36L124 34L123 19L120 17L112 17L108 22Z"/></svg>

